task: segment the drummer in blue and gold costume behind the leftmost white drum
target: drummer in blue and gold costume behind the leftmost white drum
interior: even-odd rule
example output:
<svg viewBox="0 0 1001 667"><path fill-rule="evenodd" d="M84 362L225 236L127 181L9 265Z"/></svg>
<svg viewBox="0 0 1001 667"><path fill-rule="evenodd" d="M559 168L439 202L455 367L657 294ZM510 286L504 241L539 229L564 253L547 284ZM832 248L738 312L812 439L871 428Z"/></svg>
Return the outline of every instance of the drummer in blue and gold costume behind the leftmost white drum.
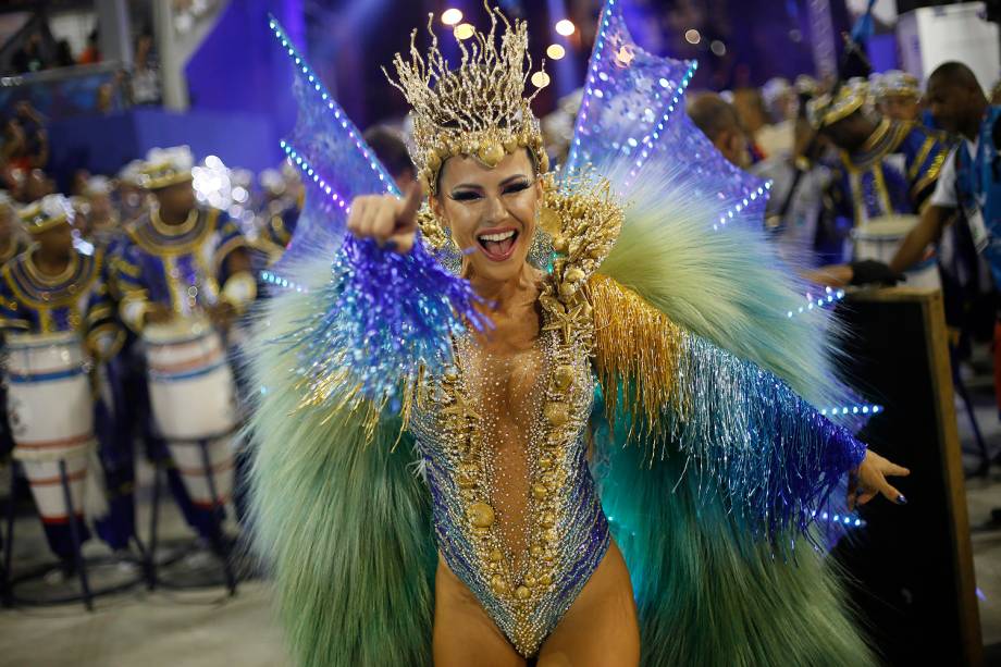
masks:
<svg viewBox="0 0 1001 667"><path fill-rule="evenodd" d="M124 332L109 297L103 254L85 255L73 247L73 209L65 197L49 195L21 212L35 246L8 262L0 273L0 326L5 334L79 334L89 356L104 362L121 349ZM108 494L108 511L99 517L99 535L113 549L125 549L135 533L131 469L121 470L119 448L127 446L113 435L113 379L101 375L96 402L96 430ZM59 409L59 406L46 406ZM82 508L75 508L82 510ZM72 555L67 522L46 522L52 551Z"/></svg>

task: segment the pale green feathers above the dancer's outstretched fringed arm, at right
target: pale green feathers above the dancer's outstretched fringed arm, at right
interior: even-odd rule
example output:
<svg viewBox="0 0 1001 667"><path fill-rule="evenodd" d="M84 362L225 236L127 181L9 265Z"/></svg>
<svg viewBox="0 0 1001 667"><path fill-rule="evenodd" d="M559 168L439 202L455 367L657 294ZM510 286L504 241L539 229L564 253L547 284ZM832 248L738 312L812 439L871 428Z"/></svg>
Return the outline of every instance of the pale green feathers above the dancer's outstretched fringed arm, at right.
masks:
<svg viewBox="0 0 1001 667"><path fill-rule="evenodd" d="M807 287L781 265L754 226L759 220L714 231L712 209L683 183L672 173L641 174L598 273L692 333L782 378L814 406L849 405L850 393L832 372L841 335L835 320L818 308L798 312L806 306Z"/></svg>

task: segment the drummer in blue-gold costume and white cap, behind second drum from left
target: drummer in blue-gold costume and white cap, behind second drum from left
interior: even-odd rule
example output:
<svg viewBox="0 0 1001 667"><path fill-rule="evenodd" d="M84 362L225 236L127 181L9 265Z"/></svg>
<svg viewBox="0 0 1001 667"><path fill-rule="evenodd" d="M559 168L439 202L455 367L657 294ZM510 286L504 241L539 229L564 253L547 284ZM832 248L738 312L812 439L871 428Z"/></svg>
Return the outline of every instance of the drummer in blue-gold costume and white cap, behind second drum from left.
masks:
<svg viewBox="0 0 1001 667"><path fill-rule="evenodd" d="M149 324L202 313L225 331L257 294L239 228L225 213L196 202L193 162L186 146L155 149L140 170L139 183L156 205L125 226L115 267L120 313L136 334ZM160 445L152 455L169 459ZM175 468L169 468L168 480L188 523L213 540L212 509L191 502Z"/></svg>

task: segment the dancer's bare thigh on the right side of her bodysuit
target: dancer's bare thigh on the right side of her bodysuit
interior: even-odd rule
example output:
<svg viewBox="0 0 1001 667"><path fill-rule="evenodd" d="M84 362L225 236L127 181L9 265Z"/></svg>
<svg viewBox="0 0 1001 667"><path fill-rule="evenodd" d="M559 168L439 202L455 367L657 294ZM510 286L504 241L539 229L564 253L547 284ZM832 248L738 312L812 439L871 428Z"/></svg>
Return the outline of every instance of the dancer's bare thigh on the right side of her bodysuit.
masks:
<svg viewBox="0 0 1001 667"><path fill-rule="evenodd" d="M640 627L629 570L611 543L556 630L542 645L537 667L635 667Z"/></svg>

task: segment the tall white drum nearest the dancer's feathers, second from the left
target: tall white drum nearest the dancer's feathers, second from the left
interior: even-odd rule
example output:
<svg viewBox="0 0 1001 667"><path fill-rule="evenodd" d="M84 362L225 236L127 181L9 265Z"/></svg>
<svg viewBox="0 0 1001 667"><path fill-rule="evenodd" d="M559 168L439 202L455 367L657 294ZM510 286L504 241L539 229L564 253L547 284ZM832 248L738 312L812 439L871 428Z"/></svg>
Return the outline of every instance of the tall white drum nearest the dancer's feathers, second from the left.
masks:
<svg viewBox="0 0 1001 667"><path fill-rule="evenodd" d="M233 491L231 433L238 413L222 338L200 319L147 326L143 338L153 419L191 502L201 507L225 503ZM215 498L210 493L202 447Z"/></svg>

